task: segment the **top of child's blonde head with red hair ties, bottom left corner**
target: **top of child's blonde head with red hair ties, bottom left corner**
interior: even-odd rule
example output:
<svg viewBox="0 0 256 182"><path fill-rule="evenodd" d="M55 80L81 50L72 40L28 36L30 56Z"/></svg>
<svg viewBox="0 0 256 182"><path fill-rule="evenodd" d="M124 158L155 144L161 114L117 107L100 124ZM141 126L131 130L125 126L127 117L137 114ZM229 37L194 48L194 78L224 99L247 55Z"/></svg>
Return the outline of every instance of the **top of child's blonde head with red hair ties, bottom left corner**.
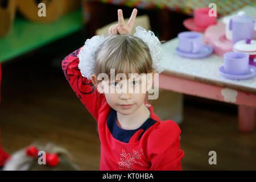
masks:
<svg viewBox="0 0 256 182"><path fill-rule="evenodd" d="M39 164L40 151L46 152L45 164ZM70 155L67 150L47 143L46 146L32 144L15 152L5 162L3 171L77 171L79 168L69 162Z"/></svg>

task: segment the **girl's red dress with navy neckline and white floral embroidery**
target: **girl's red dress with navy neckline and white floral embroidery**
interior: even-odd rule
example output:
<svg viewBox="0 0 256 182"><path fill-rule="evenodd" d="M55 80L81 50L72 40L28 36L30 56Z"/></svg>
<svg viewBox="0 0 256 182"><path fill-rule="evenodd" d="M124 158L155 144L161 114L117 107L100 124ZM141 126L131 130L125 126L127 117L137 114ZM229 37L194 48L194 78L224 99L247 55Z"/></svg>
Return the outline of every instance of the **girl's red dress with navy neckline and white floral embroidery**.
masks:
<svg viewBox="0 0 256 182"><path fill-rule="evenodd" d="M80 48L81 49L81 48ZM98 122L101 141L100 170L182 170L180 128L171 120L161 121L151 105L148 118L139 129L123 130L117 126L116 111L104 94L92 88L92 81L82 77L77 54L62 61L62 69L72 89Z"/></svg>

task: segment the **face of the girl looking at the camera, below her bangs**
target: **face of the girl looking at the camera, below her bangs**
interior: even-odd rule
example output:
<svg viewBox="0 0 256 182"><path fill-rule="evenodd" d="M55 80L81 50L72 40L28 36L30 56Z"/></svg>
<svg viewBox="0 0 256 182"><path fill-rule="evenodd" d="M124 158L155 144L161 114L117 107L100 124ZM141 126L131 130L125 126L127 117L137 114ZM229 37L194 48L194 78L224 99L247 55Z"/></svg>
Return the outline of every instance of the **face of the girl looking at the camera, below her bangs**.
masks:
<svg viewBox="0 0 256 182"><path fill-rule="evenodd" d="M119 74L121 77L118 77ZM105 94L106 101L114 110L120 114L129 115L144 103L146 93L154 82L155 71L141 75L133 72L129 77L123 73L119 74L115 76L115 80L109 78L101 81L98 90ZM95 75L92 81L97 85Z"/></svg>

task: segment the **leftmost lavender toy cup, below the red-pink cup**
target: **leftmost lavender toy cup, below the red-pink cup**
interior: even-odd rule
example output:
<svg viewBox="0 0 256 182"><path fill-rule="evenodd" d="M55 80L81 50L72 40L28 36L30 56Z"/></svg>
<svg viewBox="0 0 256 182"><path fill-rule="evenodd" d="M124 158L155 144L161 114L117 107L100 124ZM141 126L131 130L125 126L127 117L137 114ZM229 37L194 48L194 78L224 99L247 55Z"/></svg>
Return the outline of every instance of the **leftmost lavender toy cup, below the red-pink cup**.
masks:
<svg viewBox="0 0 256 182"><path fill-rule="evenodd" d="M198 32L180 32L178 34L179 50L187 53L197 53L202 44L202 35Z"/></svg>

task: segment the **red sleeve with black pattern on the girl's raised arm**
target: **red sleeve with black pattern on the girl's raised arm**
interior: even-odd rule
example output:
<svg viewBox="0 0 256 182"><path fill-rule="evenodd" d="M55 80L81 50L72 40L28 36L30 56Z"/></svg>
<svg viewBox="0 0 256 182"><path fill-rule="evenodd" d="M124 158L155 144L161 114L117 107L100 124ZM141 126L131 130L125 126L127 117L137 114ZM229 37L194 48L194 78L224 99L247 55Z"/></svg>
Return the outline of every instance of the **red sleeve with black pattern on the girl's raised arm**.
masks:
<svg viewBox="0 0 256 182"><path fill-rule="evenodd" d="M69 85L71 85L71 88L74 90L77 97L79 97L82 104L97 121L98 110L101 104L106 101L106 98L104 94L99 93L97 89L93 89L91 80L81 75L80 69L78 68L79 58L77 57L80 49L81 48L66 56L61 66Z"/></svg>

